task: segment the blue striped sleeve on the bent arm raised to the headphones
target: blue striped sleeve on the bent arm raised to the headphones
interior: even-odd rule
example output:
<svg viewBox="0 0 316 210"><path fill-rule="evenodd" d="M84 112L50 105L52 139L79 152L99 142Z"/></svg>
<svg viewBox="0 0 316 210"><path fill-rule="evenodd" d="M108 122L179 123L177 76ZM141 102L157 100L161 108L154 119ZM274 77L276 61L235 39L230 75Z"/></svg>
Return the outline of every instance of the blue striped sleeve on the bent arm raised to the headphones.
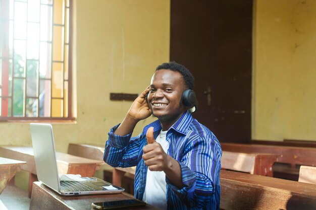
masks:
<svg viewBox="0 0 316 210"><path fill-rule="evenodd" d="M120 124L111 128L103 154L103 160L112 167L132 167L137 165L142 134L131 137L132 133L120 136L114 134Z"/></svg>

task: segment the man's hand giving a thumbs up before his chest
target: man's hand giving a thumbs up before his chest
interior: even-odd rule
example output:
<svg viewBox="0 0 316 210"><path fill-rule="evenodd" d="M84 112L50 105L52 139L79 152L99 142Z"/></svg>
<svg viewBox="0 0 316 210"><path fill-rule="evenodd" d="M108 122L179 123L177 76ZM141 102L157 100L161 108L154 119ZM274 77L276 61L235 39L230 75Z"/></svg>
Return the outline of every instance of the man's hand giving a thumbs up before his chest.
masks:
<svg viewBox="0 0 316 210"><path fill-rule="evenodd" d="M168 158L170 157L165 153L162 146L155 142L153 138L153 127L149 127L146 133L147 143L143 148L143 159L145 165L148 166L150 171L163 171L167 168Z"/></svg>

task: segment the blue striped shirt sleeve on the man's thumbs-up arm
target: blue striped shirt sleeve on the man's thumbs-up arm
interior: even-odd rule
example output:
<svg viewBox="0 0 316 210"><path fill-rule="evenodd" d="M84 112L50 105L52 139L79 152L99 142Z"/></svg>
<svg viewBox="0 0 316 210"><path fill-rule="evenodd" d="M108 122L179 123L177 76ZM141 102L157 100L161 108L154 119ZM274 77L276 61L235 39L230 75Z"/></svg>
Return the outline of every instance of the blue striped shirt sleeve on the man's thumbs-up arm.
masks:
<svg viewBox="0 0 316 210"><path fill-rule="evenodd" d="M166 182L175 194L190 207L202 208L209 202L219 186L222 149L218 143L198 137L184 150L181 167L182 189Z"/></svg>

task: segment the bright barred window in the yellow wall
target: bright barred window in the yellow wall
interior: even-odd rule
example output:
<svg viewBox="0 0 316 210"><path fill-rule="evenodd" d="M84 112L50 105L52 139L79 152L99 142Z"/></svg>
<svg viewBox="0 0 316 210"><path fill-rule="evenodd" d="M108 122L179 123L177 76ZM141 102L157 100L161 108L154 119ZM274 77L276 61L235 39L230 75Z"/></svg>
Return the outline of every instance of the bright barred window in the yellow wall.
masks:
<svg viewBox="0 0 316 210"><path fill-rule="evenodd" d="M71 0L0 2L0 120L72 119Z"/></svg>

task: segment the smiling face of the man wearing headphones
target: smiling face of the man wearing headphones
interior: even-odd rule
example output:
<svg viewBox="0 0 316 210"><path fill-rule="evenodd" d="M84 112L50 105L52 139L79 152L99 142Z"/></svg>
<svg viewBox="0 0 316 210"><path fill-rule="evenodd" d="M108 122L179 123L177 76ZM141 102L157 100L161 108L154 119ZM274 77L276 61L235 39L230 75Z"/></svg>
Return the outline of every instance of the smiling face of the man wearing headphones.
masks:
<svg viewBox="0 0 316 210"><path fill-rule="evenodd" d="M150 83L148 105L161 122L175 122L186 110L182 93L186 90L180 73L169 69L156 71Z"/></svg>

